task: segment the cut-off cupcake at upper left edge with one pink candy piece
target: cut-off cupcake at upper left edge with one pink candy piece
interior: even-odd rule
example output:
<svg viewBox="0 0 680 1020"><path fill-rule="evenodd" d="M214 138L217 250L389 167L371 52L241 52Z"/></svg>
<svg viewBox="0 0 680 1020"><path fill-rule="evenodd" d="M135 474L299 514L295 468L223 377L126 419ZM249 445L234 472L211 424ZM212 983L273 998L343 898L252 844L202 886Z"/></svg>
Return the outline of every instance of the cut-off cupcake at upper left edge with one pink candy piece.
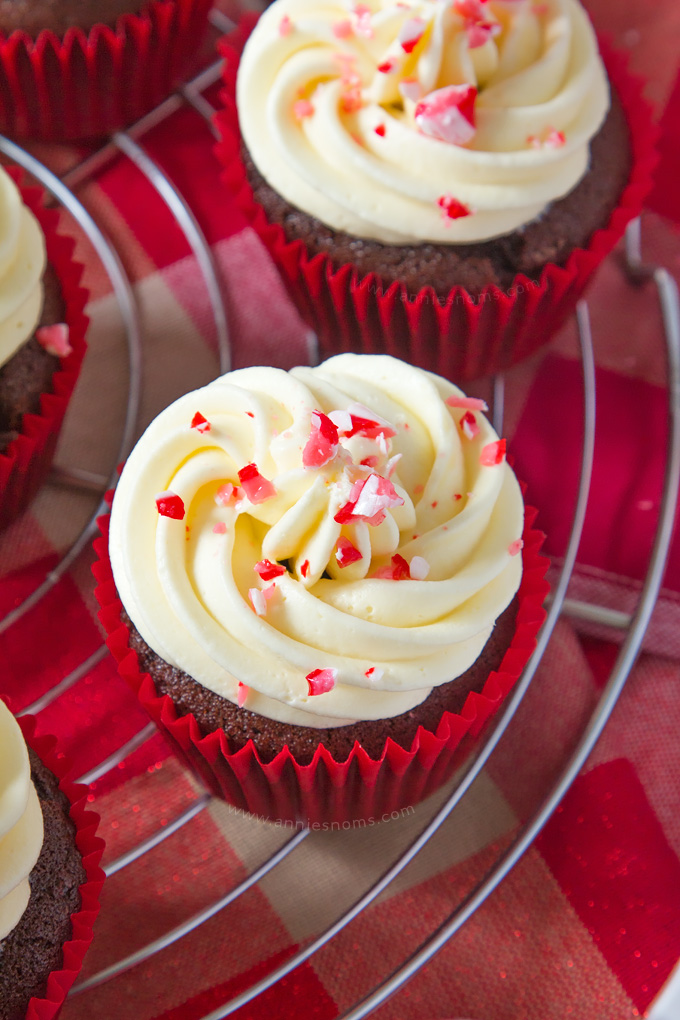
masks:
<svg viewBox="0 0 680 1020"><path fill-rule="evenodd" d="M0 528L49 470L88 324L74 243L19 180L0 168Z"/></svg>

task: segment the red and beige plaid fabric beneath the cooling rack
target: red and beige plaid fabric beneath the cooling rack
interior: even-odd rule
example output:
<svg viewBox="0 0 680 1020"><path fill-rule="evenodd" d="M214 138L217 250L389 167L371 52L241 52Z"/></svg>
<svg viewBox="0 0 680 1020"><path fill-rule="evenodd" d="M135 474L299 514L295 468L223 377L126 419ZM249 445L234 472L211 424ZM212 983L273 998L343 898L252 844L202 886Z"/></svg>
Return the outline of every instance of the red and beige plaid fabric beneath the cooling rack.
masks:
<svg viewBox="0 0 680 1020"><path fill-rule="evenodd" d="M667 109L664 164L645 216L645 256L680 275L677 114L673 91L680 6L642 0L588 5L597 28L631 53L649 98ZM670 98L669 98L670 97ZM214 95L212 97L215 98ZM219 182L212 138L180 111L144 144L182 191L212 246L224 288L234 367L309 359L309 337L252 232ZM70 149L41 148L65 170ZM214 325L200 270L145 178L123 159L80 197L123 254L144 325L140 428L217 372ZM127 370L116 302L79 235L92 295L90 353L57 461L109 474ZM591 288L598 427L593 491L570 595L632 611L653 534L666 444L664 354L653 292L634 289L610 259ZM469 388L485 395L486 384ZM582 397L573 325L546 354L508 376L506 435L547 551L564 553L580 456ZM58 561L97 497L43 489L0 537L0 614ZM18 709L101 645L87 555L0 635L2 693ZM644 651L583 773L541 836L495 894L390 1000L381 1020L620 1020L647 1015L680 956L680 538ZM311 960L243 1007L239 1018L331 1018L385 978L446 920L507 848L573 748L618 653L620 635L563 618L526 700L472 792L388 890ZM146 724L105 658L41 714L85 771ZM170 822L198 796L160 736L93 786L106 860ZM64 1020L193 1020L284 962L332 923L417 834L441 792L370 829L312 833L259 885L179 942L82 996ZM212 804L105 885L86 974L145 946L224 895L290 832Z"/></svg>

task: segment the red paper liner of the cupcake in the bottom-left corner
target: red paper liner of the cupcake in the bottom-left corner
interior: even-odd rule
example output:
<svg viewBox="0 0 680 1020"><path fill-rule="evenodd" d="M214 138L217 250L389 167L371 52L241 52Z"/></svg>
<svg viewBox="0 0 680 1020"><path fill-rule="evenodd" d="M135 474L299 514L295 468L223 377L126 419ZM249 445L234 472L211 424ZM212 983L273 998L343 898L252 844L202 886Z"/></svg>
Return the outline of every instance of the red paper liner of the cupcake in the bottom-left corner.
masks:
<svg viewBox="0 0 680 1020"><path fill-rule="evenodd" d="M86 872L86 880L80 887L81 909L71 914L71 936L62 948L62 966L49 975L45 996L40 999L34 997L30 1001L25 1015L25 1020L53 1020L81 971L92 941L93 925L99 914L99 895L104 883L104 872L100 867L104 840L97 835L99 816L87 807L88 787L69 781L70 766L57 752L55 737L38 734L33 716L23 715L16 721L27 744L59 779L59 789L70 803L69 815L75 826L75 844Z"/></svg>

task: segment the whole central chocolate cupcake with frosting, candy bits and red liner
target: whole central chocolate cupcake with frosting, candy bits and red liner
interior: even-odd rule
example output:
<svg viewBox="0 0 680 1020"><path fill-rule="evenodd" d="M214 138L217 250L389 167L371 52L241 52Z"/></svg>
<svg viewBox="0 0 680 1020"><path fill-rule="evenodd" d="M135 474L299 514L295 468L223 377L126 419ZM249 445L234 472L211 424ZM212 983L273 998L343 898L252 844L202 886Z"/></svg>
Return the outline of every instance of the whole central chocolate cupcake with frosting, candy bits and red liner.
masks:
<svg viewBox="0 0 680 1020"><path fill-rule="evenodd" d="M102 522L100 618L216 794L377 819L436 788L512 687L545 562L482 406L347 354L231 372L139 441Z"/></svg>

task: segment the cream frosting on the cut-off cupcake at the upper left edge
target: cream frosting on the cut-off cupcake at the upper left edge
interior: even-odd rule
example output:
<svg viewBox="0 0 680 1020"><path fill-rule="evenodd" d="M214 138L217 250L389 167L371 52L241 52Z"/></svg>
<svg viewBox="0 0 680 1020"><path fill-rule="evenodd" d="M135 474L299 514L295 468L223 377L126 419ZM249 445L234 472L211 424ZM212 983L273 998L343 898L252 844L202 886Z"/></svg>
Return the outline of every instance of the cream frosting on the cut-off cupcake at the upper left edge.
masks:
<svg viewBox="0 0 680 1020"><path fill-rule="evenodd" d="M43 309L45 238L0 168L0 365L35 333Z"/></svg>

